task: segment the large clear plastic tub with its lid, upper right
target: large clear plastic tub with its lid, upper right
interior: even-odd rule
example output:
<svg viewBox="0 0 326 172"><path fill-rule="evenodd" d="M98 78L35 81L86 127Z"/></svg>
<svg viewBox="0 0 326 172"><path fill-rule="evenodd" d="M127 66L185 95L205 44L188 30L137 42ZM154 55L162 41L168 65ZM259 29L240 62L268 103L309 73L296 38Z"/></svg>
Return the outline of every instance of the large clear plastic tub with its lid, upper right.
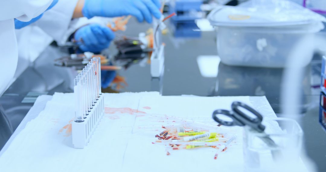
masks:
<svg viewBox="0 0 326 172"><path fill-rule="evenodd" d="M208 20L217 33L217 53L228 65L285 67L296 43L311 39L326 19L290 1L251 0L240 6L219 6ZM311 42L306 42L311 45ZM309 46L307 46L309 47ZM308 64L313 55L310 48Z"/></svg>

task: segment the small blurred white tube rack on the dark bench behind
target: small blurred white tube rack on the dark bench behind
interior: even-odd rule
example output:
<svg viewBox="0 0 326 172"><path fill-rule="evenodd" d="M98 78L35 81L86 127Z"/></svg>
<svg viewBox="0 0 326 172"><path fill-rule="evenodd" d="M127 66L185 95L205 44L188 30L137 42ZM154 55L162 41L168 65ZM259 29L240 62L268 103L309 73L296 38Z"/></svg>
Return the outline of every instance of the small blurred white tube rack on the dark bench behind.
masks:
<svg viewBox="0 0 326 172"><path fill-rule="evenodd" d="M164 44L153 51L151 56L151 75L158 78L164 71Z"/></svg>

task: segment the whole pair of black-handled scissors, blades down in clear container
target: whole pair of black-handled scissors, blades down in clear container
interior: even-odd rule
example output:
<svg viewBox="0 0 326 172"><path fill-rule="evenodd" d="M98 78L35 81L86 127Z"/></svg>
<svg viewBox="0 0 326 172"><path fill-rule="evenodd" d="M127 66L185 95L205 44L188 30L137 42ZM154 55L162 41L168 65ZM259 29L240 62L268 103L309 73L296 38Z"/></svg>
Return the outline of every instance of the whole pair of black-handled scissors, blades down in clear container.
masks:
<svg viewBox="0 0 326 172"><path fill-rule="evenodd" d="M262 115L257 112L254 108L241 103L233 102L231 105L231 111L218 109L213 112L214 121L218 122L221 125L225 126L249 126L251 131L257 133L263 133L264 136L259 137L263 140L269 147L276 149L278 146L275 144L274 140L271 139L265 132L265 125L261 124L263 120ZM244 109L244 110L241 110ZM247 113L246 113L247 112ZM248 115L248 112L252 115ZM217 115L225 115L232 119L232 121L224 121L220 119ZM252 117L255 116L255 117ZM277 150L272 149L272 155L274 159L278 159L281 156L281 153Z"/></svg>

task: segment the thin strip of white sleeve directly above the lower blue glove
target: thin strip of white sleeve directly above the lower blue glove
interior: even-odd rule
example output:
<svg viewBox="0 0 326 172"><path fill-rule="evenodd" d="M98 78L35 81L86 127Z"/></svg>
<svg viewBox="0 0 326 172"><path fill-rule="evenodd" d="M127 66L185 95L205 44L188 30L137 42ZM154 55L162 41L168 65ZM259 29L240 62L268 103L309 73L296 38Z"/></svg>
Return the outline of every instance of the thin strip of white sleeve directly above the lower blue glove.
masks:
<svg viewBox="0 0 326 172"><path fill-rule="evenodd" d="M79 28L82 26L91 24L91 23L97 23L100 25L107 25L108 22L111 22L111 18L104 18L104 17L93 17L91 19L87 19L86 17L82 17L79 19L74 19L70 22L69 28L66 31L65 35L63 36L62 40L60 42L57 42L59 45L64 45L68 40L68 38L76 32Z"/></svg>

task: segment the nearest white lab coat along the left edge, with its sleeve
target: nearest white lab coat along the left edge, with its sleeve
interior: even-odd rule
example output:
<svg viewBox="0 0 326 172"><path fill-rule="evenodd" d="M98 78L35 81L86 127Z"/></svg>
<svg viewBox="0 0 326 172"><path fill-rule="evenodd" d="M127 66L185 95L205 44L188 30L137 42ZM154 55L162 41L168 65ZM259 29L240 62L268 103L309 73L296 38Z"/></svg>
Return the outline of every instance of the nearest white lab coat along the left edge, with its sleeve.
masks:
<svg viewBox="0 0 326 172"><path fill-rule="evenodd" d="M0 0L0 96L14 76L17 60L17 40L14 18L28 22L44 12L52 0Z"/></svg>

